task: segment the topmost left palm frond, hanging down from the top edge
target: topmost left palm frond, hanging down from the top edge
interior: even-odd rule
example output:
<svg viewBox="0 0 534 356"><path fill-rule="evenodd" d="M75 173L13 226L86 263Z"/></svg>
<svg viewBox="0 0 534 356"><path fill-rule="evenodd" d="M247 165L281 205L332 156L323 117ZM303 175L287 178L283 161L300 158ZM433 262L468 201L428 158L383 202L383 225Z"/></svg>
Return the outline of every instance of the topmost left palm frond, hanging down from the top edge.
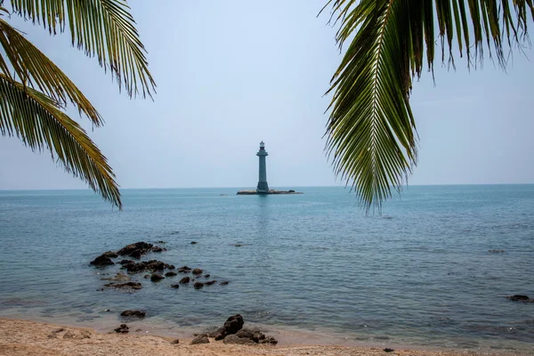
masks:
<svg viewBox="0 0 534 356"><path fill-rule="evenodd" d="M11 0L24 18L47 28L51 34L69 28L72 45L96 55L110 69L119 88L130 97L151 96L155 82L145 58L134 17L125 0Z"/></svg>

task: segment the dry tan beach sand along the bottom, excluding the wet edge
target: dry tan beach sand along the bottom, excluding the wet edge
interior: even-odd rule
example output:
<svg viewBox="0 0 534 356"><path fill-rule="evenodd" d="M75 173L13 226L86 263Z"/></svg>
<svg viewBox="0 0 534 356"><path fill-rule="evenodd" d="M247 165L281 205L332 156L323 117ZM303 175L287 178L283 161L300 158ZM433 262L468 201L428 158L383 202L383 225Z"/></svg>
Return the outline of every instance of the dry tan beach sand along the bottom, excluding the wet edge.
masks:
<svg viewBox="0 0 534 356"><path fill-rule="evenodd" d="M214 341L190 344L190 338L170 336L101 333L90 328L73 328L28 320L0 319L0 355L513 355L519 353L475 352L467 350L395 349L314 344L238 345Z"/></svg>

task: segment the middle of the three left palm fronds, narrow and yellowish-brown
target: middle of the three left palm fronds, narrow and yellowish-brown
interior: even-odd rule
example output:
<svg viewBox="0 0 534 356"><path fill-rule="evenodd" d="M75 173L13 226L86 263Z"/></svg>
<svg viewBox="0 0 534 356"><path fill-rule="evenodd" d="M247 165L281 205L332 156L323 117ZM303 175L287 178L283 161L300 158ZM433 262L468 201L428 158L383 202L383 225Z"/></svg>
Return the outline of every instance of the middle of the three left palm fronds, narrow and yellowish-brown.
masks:
<svg viewBox="0 0 534 356"><path fill-rule="evenodd" d="M14 73L23 84L45 93L61 106L66 106L67 101L71 101L80 113L83 112L93 121L94 125L101 125L100 114L69 77L19 31L2 19L0 19L0 44ZM0 56L0 70L11 77L9 67L2 56Z"/></svg>

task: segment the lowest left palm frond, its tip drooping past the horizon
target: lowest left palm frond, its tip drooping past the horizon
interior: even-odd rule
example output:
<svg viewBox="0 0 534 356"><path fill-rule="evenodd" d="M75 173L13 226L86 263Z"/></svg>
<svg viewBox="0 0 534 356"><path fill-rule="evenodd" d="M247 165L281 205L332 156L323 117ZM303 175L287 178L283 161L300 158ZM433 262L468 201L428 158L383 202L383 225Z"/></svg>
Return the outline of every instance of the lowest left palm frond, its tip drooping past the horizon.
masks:
<svg viewBox="0 0 534 356"><path fill-rule="evenodd" d="M0 133L19 137L31 150L49 150L64 166L113 205L122 208L107 159L56 101L0 74Z"/></svg>

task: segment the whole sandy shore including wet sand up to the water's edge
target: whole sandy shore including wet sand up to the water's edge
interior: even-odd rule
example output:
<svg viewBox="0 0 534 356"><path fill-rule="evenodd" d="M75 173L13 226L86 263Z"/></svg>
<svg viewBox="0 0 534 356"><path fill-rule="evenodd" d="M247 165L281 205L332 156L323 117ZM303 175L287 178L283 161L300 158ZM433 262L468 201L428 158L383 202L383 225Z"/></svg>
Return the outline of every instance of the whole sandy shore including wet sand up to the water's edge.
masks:
<svg viewBox="0 0 534 356"><path fill-rule="evenodd" d="M523 355L532 352L509 352L501 350L473 350L441 348L422 345L401 345L394 343L357 343L342 342L343 339L320 333L306 333L287 329L265 330L268 335L279 340L277 345L240 345L224 344L214 341L210 344L190 345L193 334L199 330L194 328L156 328L143 320L127 322L128 334L117 334L113 331L117 325L103 328L83 327L77 323L56 324L43 321L0 318L0 355L144 355L144 354L176 354L178 350L190 355L411 355L411 356L457 356L457 355ZM255 327L247 323L246 327ZM148 328L147 328L148 327ZM63 329L60 332L57 330ZM137 330L137 331L136 331ZM55 331L55 332L53 332ZM65 336L69 333L70 336ZM179 344L171 344L175 339ZM392 348L394 352L384 352L384 348ZM180 354L180 352L178 352Z"/></svg>

